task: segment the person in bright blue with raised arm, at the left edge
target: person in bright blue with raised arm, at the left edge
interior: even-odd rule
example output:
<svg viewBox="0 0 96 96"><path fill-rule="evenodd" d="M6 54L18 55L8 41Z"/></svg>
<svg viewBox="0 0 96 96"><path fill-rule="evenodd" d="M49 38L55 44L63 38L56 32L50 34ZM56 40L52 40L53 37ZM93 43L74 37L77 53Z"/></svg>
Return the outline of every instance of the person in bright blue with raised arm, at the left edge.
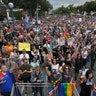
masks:
<svg viewBox="0 0 96 96"><path fill-rule="evenodd" d="M1 66L1 73L3 77L0 78L0 89L2 96L10 96L12 91L12 86L15 82L15 78L13 75L13 70L15 69L15 63L11 64L11 68L7 69L6 65Z"/></svg>

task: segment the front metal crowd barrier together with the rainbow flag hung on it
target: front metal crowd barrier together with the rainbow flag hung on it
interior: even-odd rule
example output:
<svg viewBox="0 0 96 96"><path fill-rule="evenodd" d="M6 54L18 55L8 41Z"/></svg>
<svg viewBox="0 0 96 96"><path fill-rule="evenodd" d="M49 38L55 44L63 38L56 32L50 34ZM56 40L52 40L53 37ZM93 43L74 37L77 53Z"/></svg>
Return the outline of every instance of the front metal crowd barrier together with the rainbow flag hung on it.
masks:
<svg viewBox="0 0 96 96"><path fill-rule="evenodd" d="M50 83L15 83L11 96L34 96L33 88L42 88L44 96L61 96L62 94L62 96L79 96L74 84L70 83L61 83L55 89L53 88L53 84ZM40 96L39 92L38 96Z"/></svg>

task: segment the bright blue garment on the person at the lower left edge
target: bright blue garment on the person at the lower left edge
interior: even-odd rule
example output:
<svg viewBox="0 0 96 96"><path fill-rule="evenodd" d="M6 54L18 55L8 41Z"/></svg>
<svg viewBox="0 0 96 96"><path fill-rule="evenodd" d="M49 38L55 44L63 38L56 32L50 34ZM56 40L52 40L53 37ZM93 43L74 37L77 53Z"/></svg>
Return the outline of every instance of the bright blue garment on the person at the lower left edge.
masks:
<svg viewBox="0 0 96 96"><path fill-rule="evenodd" d="M6 82L4 84L0 84L1 92L11 92L12 86L14 83L13 73L10 73L9 71L7 71L6 74L4 75L4 78Z"/></svg>

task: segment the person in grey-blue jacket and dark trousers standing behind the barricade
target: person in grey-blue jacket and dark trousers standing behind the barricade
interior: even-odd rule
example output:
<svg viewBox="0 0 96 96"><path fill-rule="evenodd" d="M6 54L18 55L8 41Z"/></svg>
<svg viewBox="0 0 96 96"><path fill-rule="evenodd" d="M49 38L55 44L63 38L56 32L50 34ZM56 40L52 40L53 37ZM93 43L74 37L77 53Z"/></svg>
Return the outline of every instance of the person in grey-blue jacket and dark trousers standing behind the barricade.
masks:
<svg viewBox="0 0 96 96"><path fill-rule="evenodd" d="M31 74L31 82L32 83L43 83L44 82L44 74L41 71L39 66L36 66L35 71ZM37 93L40 92L40 96L44 96L42 87L34 87L33 88L34 96L37 96Z"/></svg>

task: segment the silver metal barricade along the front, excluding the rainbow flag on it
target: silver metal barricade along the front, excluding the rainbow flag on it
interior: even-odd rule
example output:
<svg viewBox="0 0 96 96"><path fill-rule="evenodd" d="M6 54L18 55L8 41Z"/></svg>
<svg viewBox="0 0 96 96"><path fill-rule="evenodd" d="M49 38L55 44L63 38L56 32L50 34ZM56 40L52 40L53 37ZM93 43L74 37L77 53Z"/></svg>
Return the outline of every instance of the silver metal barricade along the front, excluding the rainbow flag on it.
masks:
<svg viewBox="0 0 96 96"><path fill-rule="evenodd" d="M11 96L34 96L35 92L33 88L43 88L44 96L58 96L57 89L55 90L54 95L49 94L53 88L53 84L50 83L15 83L12 88ZM40 92L38 92L37 96L40 96ZM73 96L79 96L79 93L74 85Z"/></svg>

